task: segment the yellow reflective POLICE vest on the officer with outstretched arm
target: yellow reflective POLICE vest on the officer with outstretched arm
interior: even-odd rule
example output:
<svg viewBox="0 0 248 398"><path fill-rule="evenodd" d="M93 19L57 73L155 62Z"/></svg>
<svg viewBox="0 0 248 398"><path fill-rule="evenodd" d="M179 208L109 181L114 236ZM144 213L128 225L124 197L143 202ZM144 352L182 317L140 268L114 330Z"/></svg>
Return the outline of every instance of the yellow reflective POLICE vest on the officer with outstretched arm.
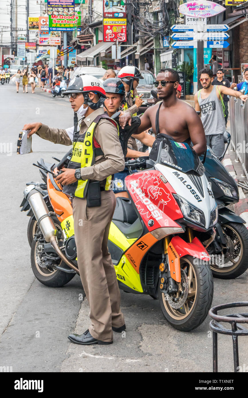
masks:
<svg viewBox="0 0 248 398"><path fill-rule="evenodd" d="M73 147L72 147L72 157L68 164L68 168L70 169L78 169L82 167L93 166L95 163L96 156L103 155L103 151L97 141L94 139L94 129L100 119L109 119L117 128L118 135L119 129L117 123L111 119L108 115L103 113L102 115L98 115L96 119L91 123L88 130L79 134L74 133L73 138ZM112 176L108 176L104 181L104 189L105 191L109 191L111 185ZM84 199L86 197L87 188L88 188L89 180L80 179L70 185L64 185L63 192L67 195L76 196Z"/></svg>

